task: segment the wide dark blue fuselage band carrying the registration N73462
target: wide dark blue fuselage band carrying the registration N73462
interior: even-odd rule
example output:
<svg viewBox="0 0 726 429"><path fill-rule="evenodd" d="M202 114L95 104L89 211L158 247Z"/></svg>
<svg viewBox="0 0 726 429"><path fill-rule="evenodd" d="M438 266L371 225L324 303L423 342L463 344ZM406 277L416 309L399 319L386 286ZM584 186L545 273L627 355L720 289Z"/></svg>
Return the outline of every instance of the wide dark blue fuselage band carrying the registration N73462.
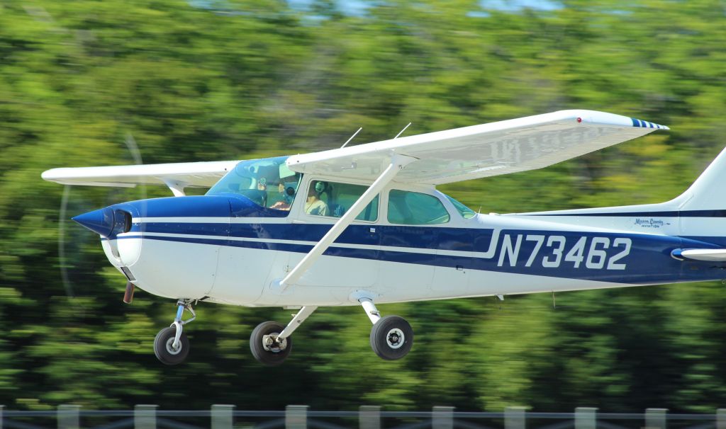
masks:
<svg viewBox="0 0 726 429"><path fill-rule="evenodd" d="M201 243L217 246L243 247L248 249L266 249L306 253L327 233L331 225L311 224L276 224L276 223L187 223L187 222L147 222L143 225L134 225L133 232L186 234L197 237L159 237L144 236L151 240L176 241L184 243ZM406 264L435 265L439 267L462 267L471 270L486 270L497 272L511 272L518 274L544 275L559 278L577 278L583 280L599 280L614 283L646 284L671 283L674 281L709 280L721 278L719 270L711 269L714 264L702 262L681 262L670 257L673 249L680 247L715 248L714 244L704 241L693 241L672 236L653 236L632 233L582 233L571 231L551 230L502 230L497 241L492 258L473 257L468 255L437 254L437 251L463 251L486 252L492 241L494 230L479 228L445 228L445 227L414 227L414 226L388 226L375 225L375 233L370 232L371 225L351 225L343 232L335 243L347 245L376 246L375 249L350 249L333 246L327 249L326 255L348 258L377 259L387 262L401 262ZM206 237L200 237L206 236ZM521 236L521 238L520 238ZM533 238L533 239L527 239ZM537 241L534 236L544 236L544 242L532 259L531 265L526 262L531 259ZM555 255L556 243L547 246L547 238L559 236L565 239L561 250L558 267L545 267L542 263L545 257L552 261ZM626 264L625 270L607 270L603 268L587 268L586 260L575 267L575 262L566 260L580 238L585 237L584 257L590 251L593 237L607 238L614 244L616 238L628 238L632 241L632 249L626 257L618 263ZM126 237L121 237L126 238ZM133 238L133 237L128 237ZM240 241L234 238L247 238ZM256 239L272 241L256 241ZM514 246L520 241L516 258L510 258L502 250L505 239ZM305 243L283 243L281 241L307 241ZM380 246L380 247L378 247ZM513 246L510 246L510 251ZM391 249L399 247L411 249ZM428 250L423 250L428 249ZM624 251L624 246L609 246L604 250L605 258L612 259ZM425 253L422 253L425 252ZM502 256L502 253L504 255ZM514 260L515 259L515 260ZM571 258L572 259L572 258ZM595 261L598 259L595 258ZM723 266L723 264L719 265Z"/></svg>

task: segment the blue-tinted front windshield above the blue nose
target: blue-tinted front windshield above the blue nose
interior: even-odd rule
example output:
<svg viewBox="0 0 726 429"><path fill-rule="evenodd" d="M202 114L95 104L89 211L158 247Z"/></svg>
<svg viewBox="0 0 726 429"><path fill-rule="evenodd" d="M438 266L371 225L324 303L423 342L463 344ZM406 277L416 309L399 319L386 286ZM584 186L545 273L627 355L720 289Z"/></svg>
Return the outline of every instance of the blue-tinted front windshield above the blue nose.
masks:
<svg viewBox="0 0 726 429"><path fill-rule="evenodd" d="M301 174L287 168L287 157L242 161L206 195L236 193L269 209L290 210Z"/></svg>

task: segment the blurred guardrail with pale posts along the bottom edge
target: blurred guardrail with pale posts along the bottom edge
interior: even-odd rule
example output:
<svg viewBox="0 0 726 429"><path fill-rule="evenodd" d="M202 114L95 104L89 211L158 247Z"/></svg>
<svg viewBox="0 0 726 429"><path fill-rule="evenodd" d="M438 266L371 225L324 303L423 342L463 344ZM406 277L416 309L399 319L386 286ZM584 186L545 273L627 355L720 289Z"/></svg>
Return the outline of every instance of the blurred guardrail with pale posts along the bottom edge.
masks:
<svg viewBox="0 0 726 429"><path fill-rule="evenodd" d="M358 411L311 411L288 405L285 411L237 410L213 405L209 410L160 410L136 405L133 410L83 410L61 405L54 411L11 411L0 405L0 429L726 429L726 409L715 414L672 414L649 408L645 413L600 413L579 407L575 412L528 412L508 407L504 412L457 412L433 407L426 412L381 411L362 406Z"/></svg>

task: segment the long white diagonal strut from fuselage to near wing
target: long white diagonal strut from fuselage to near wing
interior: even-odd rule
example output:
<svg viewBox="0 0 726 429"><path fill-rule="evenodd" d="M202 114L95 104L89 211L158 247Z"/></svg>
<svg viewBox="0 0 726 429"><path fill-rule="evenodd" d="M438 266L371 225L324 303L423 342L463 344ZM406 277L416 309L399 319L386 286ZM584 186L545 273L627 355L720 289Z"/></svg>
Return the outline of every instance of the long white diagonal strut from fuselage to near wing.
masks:
<svg viewBox="0 0 726 429"><path fill-rule="evenodd" d="M333 241L335 241L338 236L340 236L341 233L343 233L343 230L348 228L348 225L351 225L351 222L358 216L363 209L370 203L370 201L373 201L376 195L380 193L380 190L383 189L388 183L391 183L391 180L393 180L394 177L396 177L396 174L398 174L399 171L401 171L404 167L406 167L407 164L410 162L414 162L416 158L414 157L407 157L406 155L399 155L399 154L393 154L391 157L391 164L388 164L388 167L386 167L386 170L381 173L380 176L375 180L375 182L372 183L370 188L368 188L362 196L356 201L350 209L346 212L346 214L343 214L343 217L340 217L338 222L335 222L335 225L333 225L333 228L330 228L329 231L327 231L327 234L323 236L323 238L318 241L318 243L313 247L311 251L309 251L308 254L303 257L303 259L298 262L298 265L295 265L295 268L291 270L285 278L282 279L280 282L280 290L285 291L290 285L295 284L300 278L305 274L307 270L312 267L312 265L317 261L317 259L327 250L328 247L330 247L331 244L333 244Z"/></svg>

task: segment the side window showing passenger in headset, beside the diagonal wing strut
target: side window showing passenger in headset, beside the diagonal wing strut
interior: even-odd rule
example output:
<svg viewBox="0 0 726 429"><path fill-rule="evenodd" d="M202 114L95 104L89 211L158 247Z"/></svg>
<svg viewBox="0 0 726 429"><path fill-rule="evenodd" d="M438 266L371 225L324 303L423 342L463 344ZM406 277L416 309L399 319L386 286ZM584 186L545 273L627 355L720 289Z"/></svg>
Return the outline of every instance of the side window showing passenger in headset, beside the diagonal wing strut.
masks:
<svg viewBox="0 0 726 429"><path fill-rule="evenodd" d="M314 216L342 217L367 190L367 186L351 183L312 180L305 201L305 212ZM378 195L375 196L356 220L378 220Z"/></svg>

